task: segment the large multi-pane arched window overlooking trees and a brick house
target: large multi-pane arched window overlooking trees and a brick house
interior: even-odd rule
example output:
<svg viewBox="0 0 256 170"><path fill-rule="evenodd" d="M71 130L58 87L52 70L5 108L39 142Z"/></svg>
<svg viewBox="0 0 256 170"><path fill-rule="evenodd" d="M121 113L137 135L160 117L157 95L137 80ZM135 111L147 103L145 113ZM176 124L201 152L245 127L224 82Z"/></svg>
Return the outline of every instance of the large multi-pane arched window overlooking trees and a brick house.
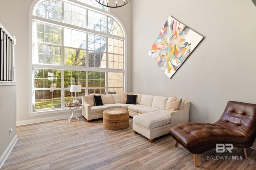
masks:
<svg viewBox="0 0 256 170"><path fill-rule="evenodd" d="M32 112L64 109L74 94L124 92L125 32L95 0L41 0L32 12Z"/></svg>

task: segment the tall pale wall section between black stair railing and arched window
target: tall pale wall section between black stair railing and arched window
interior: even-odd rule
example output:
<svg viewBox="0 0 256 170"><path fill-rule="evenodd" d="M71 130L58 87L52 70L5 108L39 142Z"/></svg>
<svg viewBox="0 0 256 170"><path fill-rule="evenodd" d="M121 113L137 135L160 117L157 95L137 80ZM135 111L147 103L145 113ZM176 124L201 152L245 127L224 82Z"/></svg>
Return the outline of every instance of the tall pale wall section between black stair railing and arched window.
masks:
<svg viewBox="0 0 256 170"><path fill-rule="evenodd" d="M17 120L28 115L28 11L32 0L0 0L0 23L16 37Z"/></svg>

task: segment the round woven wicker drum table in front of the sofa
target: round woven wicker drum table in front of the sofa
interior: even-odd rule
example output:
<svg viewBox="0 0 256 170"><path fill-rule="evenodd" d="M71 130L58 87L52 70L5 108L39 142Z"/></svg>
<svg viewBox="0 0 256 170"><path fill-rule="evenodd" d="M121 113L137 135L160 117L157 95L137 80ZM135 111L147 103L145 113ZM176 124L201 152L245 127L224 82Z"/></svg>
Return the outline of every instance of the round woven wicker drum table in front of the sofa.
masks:
<svg viewBox="0 0 256 170"><path fill-rule="evenodd" d="M109 130L121 130L129 127L127 109L112 108L103 111L103 127Z"/></svg>

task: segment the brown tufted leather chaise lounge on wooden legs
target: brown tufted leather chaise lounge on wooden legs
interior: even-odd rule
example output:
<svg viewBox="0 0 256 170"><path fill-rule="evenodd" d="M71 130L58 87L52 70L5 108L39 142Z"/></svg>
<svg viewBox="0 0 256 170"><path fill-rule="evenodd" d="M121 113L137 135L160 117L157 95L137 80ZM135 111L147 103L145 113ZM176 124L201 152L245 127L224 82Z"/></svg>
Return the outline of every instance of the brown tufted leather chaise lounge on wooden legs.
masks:
<svg viewBox="0 0 256 170"><path fill-rule="evenodd" d="M256 104L228 101L224 113L215 123L182 123L172 127L169 133L194 154L197 167L197 154L216 148L216 143L233 144L242 148L247 159L246 148L252 147L256 137Z"/></svg>

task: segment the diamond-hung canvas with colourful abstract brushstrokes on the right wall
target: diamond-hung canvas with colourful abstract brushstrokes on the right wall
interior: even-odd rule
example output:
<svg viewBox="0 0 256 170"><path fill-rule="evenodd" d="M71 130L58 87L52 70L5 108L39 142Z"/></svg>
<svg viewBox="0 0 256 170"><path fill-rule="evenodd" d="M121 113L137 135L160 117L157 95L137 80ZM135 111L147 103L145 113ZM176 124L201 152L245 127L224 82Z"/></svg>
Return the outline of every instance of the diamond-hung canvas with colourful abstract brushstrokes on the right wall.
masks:
<svg viewBox="0 0 256 170"><path fill-rule="evenodd" d="M201 35L169 16L148 55L171 78L202 39Z"/></svg>

